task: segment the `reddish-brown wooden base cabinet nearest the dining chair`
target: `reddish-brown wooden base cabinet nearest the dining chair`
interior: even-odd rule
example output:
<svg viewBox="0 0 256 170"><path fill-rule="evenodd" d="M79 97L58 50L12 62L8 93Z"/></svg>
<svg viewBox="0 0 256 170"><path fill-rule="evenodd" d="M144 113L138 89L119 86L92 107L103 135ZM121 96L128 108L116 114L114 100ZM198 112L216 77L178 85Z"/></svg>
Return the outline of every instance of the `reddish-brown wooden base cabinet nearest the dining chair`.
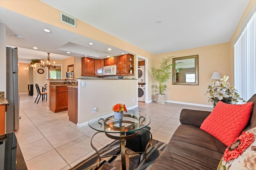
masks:
<svg viewBox="0 0 256 170"><path fill-rule="evenodd" d="M68 87L50 86L50 111L56 113L68 110Z"/></svg>

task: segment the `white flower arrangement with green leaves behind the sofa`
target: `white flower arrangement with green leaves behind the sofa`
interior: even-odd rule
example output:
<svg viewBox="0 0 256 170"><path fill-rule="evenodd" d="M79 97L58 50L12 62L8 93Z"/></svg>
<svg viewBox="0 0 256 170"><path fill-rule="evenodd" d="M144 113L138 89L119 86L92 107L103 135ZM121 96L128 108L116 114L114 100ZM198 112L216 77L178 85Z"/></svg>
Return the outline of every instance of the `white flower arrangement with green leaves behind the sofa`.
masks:
<svg viewBox="0 0 256 170"><path fill-rule="evenodd" d="M224 103L229 104L236 104L238 100L246 102L238 95L237 90L233 86L229 85L228 78L228 76L224 75L220 81L212 81L208 86L208 90L205 95L210 98L209 101L212 102L214 106L216 106L218 101L223 101Z"/></svg>

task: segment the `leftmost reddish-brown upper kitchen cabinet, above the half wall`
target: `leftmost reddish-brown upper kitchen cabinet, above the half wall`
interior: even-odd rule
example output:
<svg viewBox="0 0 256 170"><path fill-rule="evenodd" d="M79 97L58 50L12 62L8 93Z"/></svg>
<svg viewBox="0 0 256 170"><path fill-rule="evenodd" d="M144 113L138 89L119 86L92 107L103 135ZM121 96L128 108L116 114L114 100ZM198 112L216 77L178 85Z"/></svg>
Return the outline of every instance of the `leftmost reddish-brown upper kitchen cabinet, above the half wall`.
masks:
<svg viewBox="0 0 256 170"><path fill-rule="evenodd" d="M82 75L95 75L94 59L82 57Z"/></svg>

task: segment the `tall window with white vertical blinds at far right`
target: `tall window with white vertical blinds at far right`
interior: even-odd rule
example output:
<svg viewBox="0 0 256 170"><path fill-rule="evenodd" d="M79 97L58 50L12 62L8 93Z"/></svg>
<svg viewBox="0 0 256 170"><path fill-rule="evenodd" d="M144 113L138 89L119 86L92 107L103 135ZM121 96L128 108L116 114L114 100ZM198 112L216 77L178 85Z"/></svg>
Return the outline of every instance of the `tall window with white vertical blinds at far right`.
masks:
<svg viewBox="0 0 256 170"><path fill-rule="evenodd" d="M234 44L234 85L244 100L256 93L256 13Z"/></svg>

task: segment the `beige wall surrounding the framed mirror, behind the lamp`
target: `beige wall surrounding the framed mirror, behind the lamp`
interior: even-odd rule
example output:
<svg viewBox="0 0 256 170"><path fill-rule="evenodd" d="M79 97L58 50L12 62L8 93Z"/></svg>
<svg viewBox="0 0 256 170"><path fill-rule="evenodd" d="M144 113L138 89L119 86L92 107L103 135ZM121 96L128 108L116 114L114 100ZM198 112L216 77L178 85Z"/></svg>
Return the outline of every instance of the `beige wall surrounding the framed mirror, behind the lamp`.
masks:
<svg viewBox="0 0 256 170"><path fill-rule="evenodd" d="M208 103L208 98L204 94L212 81L210 77L214 71L218 71L221 76L229 76L231 74L230 65L228 64L230 63L229 48L229 43L222 43L155 55L155 67L158 67L158 63L162 61L162 58L166 58L167 56L184 57L198 55L199 85L172 85L171 77L166 83L168 85L167 91L165 92L166 100L211 105Z"/></svg>

